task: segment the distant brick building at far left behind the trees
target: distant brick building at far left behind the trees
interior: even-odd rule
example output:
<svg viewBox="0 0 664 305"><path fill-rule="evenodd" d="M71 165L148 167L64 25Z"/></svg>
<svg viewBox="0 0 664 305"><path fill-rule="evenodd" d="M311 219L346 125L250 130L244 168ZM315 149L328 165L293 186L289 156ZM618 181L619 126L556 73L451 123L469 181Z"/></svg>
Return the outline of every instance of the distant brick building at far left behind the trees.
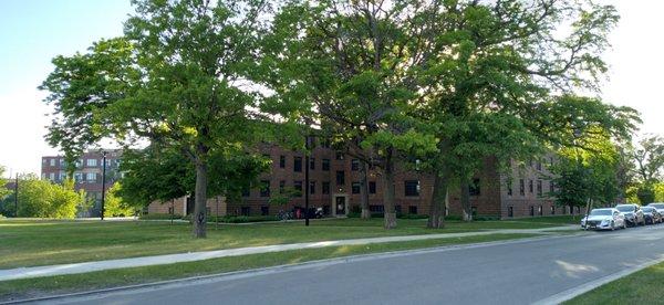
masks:
<svg viewBox="0 0 664 305"><path fill-rule="evenodd" d="M120 179L120 161L122 151L106 149L106 190ZM102 200L102 151L86 151L76 161L74 181L76 190L85 190L87 198L94 200L89 211L80 211L79 217L98 217ZM66 164L63 156L42 157L41 178L60 183L66 178Z"/></svg>

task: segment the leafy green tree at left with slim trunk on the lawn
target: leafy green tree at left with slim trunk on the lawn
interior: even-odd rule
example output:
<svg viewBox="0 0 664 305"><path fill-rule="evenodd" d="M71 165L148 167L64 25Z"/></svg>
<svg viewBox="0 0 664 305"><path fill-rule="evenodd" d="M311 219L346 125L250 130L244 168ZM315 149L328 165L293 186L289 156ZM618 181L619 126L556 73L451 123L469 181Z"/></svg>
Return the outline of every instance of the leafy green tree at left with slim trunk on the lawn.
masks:
<svg viewBox="0 0 664 305"><path fill-rule="evenodd" d="M195 168L194 235L204 238L211 151L237 151L267 128L250 75L267 1L132 3L124 36L53 60L41 86L55 106L48 138L68 156L104 137L180 151Z"/></svg>

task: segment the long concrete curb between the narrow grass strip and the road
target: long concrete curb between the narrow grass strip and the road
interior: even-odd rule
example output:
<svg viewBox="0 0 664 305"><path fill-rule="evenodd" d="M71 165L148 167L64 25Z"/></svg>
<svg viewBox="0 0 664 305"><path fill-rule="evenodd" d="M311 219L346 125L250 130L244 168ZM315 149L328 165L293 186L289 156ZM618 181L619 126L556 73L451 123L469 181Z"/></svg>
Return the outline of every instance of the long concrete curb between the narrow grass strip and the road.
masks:
<svg viewBox="0 0 664 305"><path fill-rule="evenodd" d="M470 244L457 244L457 245L444 245L444 246L425 248L425 249L391 251L391 252L372 253L372 254L360 254L360 255L342 256L342 257L334 257L334 259L317 260L317 261L295 263L295 264L277 265L277 266L260 267L260 269L252 269L252 270L234 271L234 272L217 273L217 274L209 274L209 275L201 275L201 276L167 280L167 281L136 284L136 285L128 285L128 286L111 287L111 288L103 288L103 290L95 290L95 291L87 291L87 292L77 292L77 293L69 293L69 294L60 294L60 295L51 295L51 296L42 296L42 297L33 297L33 298L23 298L23 299L0 301L0 305L39 303L39 302L63 302L65 299L71 302L72 301L71 298L95 299L95 298L102 297L108 293L132 293L132 292L143 291L143 290L168 288L172 286L181 287L183 284L184 285L194 285L194 284L200 284L201 282L207 282L207 283L225 282L225 281L253 277L253 276L279 273L279 272L331 266L331 265L350 263L350 262L391 259L391 257L400 257L400 256L407 256L407 255L447 252L447 251L464 250L464 249L476 249L476 248L485 248L485 246L502 245L502 244L517 244L517 243L525 243L525 242L532 242L532 241L540 241L540 240L562 239L562 238L569 238L569 236L570 235L541 235L541 236L523 238L523 239L516 239L516 240L491 241L491 242L470 243Z"/></svg>

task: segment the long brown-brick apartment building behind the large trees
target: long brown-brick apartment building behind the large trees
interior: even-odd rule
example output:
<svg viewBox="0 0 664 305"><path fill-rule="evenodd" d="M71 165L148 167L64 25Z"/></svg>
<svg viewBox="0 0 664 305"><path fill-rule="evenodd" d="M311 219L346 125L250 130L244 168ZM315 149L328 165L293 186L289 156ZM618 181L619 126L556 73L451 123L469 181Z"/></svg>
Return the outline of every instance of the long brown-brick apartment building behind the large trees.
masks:
<svg viewBox="0 0 664 305"><path fill-rule="evenodd" d="M360 206L360 161L325 146L313 148L310 162L304 155L278 146L266 146L263 156L272 160L270 172L260 176L260 185L246 190L241 200L208 200L208 212L217 215L267 215L279 210L291 210L304 206L304 196L289 200L287 207L270 203L270 197L283 189L295 189L303 193L304 167L310 169L310 207L323 208L325 214L345 215ZM510 175L501 173L496 161L488 158L484 168L473 179L470 204L474 214L501 219L580 213L569 208L557 207L547 197L551 182L546 179L552 157L530 161L522 167L512 167ZM428 214L433 193L433 177L416 170L397 170L395 177L396 211L401 213ZM369 172L369 199L372 212L383 212L383 187L380 173ZM154 202L147 213L189 214L193 198L180 198L169 202ZM448 213L461 214L458 192L448 197Z"/></svg>

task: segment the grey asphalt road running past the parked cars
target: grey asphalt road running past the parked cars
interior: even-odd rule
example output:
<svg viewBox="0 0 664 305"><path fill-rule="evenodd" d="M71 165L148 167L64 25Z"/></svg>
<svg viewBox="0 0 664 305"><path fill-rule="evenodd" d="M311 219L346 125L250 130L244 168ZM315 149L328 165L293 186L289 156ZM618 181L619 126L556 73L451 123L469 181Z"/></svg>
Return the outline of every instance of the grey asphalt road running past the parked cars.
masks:
<svg viewBox="0 0 664 305"><path fill-rule="evenodd" d="M217 277L62 303L531 304L663 256L664 225L651 225Z"/></svg>

